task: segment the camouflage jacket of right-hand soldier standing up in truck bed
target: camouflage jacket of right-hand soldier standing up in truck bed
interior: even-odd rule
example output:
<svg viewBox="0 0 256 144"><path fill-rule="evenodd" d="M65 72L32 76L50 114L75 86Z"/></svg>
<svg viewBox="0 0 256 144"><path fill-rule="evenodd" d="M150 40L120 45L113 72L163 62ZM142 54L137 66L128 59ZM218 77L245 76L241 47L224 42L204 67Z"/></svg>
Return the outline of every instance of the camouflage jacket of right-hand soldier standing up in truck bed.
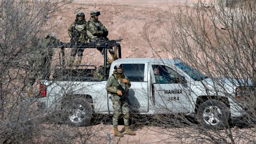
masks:
<svg viewBox="0 0 256 144"><path fill-rule="evenodd" d="M89 39L107 38L108 30L99 20L95 20L91 17L90 20L87 21L86 26Z"/></svg>

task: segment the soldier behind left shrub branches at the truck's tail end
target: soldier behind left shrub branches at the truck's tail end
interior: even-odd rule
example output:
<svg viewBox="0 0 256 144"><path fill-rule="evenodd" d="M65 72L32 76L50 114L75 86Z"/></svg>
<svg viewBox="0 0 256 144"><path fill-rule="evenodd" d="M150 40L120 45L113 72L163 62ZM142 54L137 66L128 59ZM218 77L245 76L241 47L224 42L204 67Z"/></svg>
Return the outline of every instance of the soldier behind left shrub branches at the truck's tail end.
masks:
<svg viewBox="0 0 256 144"><path fill-rule="evenodd" d="M51 75L51 62L53 56L53 49L48 47L50 44L58 43L59 40L56 39L54 34L48 34L41 42L39 42L39 47L36 51L33 51L31 58L28 61L31 70L28 75L28 95L29 97L33 92L33 84L36 78L39 79L49 79Z"/></svg>

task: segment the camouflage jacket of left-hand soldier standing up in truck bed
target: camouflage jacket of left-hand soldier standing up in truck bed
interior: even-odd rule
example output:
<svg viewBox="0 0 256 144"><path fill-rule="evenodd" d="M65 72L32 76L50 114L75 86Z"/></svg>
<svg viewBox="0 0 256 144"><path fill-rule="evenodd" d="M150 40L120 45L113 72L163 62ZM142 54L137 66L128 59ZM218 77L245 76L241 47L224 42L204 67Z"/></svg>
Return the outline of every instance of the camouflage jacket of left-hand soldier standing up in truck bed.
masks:
<svg viewBox="0 0 256 144"><path fill-rule="evenodd" d="M76 19L75 22L69 26L68 35L71 41L74 41L72 38L75 38L78 43L86 43L88 39L86 34L86 21L79 22ZM73 37L74 35L75 37Z"/></svg>

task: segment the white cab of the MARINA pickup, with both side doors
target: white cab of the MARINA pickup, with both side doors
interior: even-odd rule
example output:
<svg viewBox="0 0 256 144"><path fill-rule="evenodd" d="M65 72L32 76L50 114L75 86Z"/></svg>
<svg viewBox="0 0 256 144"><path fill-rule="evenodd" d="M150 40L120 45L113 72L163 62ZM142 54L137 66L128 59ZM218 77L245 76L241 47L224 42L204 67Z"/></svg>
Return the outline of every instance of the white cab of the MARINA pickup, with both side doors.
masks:
<svg viewBox="0 0 256 144"><path fill-rule="evenodd" d="M110 75L117 63L122 63L124 74L131 82L129 100L131 112L140 114L189 113L188 94L189 77L178 70L174 60L160 59L121 59L112 63ZM159 75L164 76L161 82L156 81L154 68L159 69ZM108 97L111 97L108 94ZM109 101L109 111L111 102ZM182 105L181 105L182 103Z"/></svg>

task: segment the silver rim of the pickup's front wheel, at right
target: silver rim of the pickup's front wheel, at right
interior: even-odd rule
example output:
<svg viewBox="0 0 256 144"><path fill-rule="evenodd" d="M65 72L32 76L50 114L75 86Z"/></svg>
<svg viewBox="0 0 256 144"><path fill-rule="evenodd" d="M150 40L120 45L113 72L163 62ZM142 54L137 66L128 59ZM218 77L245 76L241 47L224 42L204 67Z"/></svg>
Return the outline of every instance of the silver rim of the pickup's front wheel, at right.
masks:
<svg viewBox="0 0 256 144"><path fill-rule="evenodd" d="M204 109L203 118L205 123L217 125L221 121L222 111L216 106L209 106Z"/></svg>

